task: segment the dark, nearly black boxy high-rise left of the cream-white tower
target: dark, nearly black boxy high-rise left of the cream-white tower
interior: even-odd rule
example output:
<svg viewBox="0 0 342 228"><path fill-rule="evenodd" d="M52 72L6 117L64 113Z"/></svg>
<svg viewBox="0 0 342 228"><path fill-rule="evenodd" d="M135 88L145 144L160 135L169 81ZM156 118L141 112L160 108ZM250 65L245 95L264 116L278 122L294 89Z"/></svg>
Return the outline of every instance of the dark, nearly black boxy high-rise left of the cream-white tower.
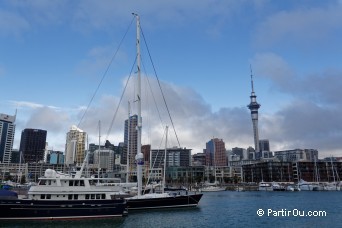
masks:
<svg viewBox="0 0 342 228"><path fill-rule="evenodd" d="M25 163L43 162L46 148L46 130L26 128L21 132L19 151Z"/></svg>

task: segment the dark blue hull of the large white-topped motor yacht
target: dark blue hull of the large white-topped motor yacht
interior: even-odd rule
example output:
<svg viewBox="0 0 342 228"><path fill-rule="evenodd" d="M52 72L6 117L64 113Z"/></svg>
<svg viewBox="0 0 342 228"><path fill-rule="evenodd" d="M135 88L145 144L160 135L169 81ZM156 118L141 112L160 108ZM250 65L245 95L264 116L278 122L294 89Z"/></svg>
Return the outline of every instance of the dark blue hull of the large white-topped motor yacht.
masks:
<svg viewBox="0 0 342 228"><path fill-rule="evenodd" d="M0 199L0 220L65 220L126 215L124 199L28 200Z"/></svg>

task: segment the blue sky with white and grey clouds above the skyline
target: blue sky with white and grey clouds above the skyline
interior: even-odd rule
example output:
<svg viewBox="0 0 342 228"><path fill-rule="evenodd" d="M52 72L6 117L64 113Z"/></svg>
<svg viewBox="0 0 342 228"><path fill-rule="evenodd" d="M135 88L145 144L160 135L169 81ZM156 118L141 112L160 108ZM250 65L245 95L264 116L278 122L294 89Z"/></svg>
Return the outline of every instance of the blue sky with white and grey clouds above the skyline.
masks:
<svg viewBox="0 0 342 228"><path fill-rule="evenodd" d="M143 144L164 147L168 125L168 146L193 153L212 138L254 146L252 73L272 151L342 156L341 0L2 0L0 113L17 110L14 148L25 128L47 130L52 150L72 125L89 143L123 141L137 112L132 12Z"/></svg>

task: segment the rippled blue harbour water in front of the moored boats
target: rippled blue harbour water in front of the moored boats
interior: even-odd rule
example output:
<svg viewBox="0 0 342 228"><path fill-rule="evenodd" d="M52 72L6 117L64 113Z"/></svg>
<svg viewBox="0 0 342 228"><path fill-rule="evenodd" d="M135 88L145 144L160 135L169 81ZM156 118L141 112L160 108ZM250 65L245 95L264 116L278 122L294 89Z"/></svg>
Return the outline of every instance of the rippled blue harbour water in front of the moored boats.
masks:
<svg viewBox="0 0 342 228"><path fill-rule="evenodd" d="M341 227L341 212L339 191L223 191L204 193L198 208L129 212L124 218L90 221L6 222L0 227Z"/></svg>

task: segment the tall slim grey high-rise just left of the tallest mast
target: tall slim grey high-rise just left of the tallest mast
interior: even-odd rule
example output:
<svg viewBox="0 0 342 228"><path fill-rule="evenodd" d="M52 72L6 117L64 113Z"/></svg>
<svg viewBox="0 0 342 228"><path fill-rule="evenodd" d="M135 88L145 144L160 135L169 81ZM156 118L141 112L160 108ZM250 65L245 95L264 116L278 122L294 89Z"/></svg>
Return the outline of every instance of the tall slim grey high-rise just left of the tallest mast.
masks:
<svg viewBox="0 0 342 228"><path fill-rule="evenodd" d="M138 145L138 116L130 116L129 120L125 120L125 149L121 156L121 164L127 164L127 153L129 157L129 166L135 166L135 155L137 155L137 145Z"/></svg>

